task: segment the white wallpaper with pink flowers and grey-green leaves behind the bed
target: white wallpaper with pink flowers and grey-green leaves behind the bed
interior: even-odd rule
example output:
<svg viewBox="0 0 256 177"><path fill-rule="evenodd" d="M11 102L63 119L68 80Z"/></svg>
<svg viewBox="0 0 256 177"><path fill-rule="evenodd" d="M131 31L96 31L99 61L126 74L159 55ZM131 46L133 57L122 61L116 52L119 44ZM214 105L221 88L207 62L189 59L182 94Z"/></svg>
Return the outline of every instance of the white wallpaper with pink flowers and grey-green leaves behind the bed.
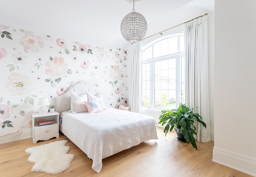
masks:
<svg viewBox="0 0 256 177"><path fill-rule="evenodd" d="M50 104L74 83L90 81L109 107L128 105L127 50L91 46L0 25L0 134L31 129L38 98Z"/></svg>

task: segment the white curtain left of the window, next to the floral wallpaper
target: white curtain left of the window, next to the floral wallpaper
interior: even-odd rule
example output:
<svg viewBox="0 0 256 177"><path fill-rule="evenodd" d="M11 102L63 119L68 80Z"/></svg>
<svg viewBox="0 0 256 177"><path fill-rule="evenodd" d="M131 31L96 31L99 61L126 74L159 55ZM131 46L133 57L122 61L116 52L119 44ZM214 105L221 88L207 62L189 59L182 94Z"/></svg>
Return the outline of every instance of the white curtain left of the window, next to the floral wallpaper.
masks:
<svg viewBox="0 0 256 177"><path fill-rule="evenodd" d="M130 111L141 113L142 108L142 41L132 44L129 82Z"/></svg>

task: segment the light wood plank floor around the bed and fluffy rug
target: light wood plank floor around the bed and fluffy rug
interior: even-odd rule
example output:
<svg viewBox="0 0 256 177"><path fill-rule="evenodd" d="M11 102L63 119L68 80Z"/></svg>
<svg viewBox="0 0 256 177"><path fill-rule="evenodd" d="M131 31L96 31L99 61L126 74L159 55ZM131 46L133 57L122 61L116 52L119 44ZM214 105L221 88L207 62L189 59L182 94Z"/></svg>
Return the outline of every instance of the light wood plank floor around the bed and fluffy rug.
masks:
<svg viewBox="0 0 256 177"><path fill-rule="evenodd" d="M232 168L212 162L214 142L197 142L198 151L191 144L175 140L175 132L164 136L157 127L158 140L150 140L102 160L98 174L92 161L66 136L32 143L32 138L21 140L0 149L1 177L251 177ZM74 154L71 167L59 175L31 172L34 163L27 162L26 148L66 139L68 153Z"/></svg>

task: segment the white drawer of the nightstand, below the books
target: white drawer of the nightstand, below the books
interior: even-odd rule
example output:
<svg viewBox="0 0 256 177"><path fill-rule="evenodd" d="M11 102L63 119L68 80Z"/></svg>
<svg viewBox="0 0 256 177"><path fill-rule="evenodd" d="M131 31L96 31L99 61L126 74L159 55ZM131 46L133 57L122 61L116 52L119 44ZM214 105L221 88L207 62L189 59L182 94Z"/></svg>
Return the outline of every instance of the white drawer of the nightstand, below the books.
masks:
<svg viewBox="0 0 256 177"><path fill-rule="evenodd" d="M35 127L35 139L44 137L44 136L51 136L54 134L58 134L58 124L53 125L45 125L42 127Z"/></svg>

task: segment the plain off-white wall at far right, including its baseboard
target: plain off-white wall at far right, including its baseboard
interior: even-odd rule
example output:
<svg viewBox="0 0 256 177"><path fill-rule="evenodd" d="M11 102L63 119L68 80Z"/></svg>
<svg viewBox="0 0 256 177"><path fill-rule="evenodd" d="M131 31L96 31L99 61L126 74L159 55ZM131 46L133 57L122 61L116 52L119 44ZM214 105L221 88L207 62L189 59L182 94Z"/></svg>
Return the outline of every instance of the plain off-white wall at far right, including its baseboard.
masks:
<svg viewBox="0 0 256 177"><path fill-rule="evenodd" d="M256 1L215 0L213 161L256 176Z"/></svg>

